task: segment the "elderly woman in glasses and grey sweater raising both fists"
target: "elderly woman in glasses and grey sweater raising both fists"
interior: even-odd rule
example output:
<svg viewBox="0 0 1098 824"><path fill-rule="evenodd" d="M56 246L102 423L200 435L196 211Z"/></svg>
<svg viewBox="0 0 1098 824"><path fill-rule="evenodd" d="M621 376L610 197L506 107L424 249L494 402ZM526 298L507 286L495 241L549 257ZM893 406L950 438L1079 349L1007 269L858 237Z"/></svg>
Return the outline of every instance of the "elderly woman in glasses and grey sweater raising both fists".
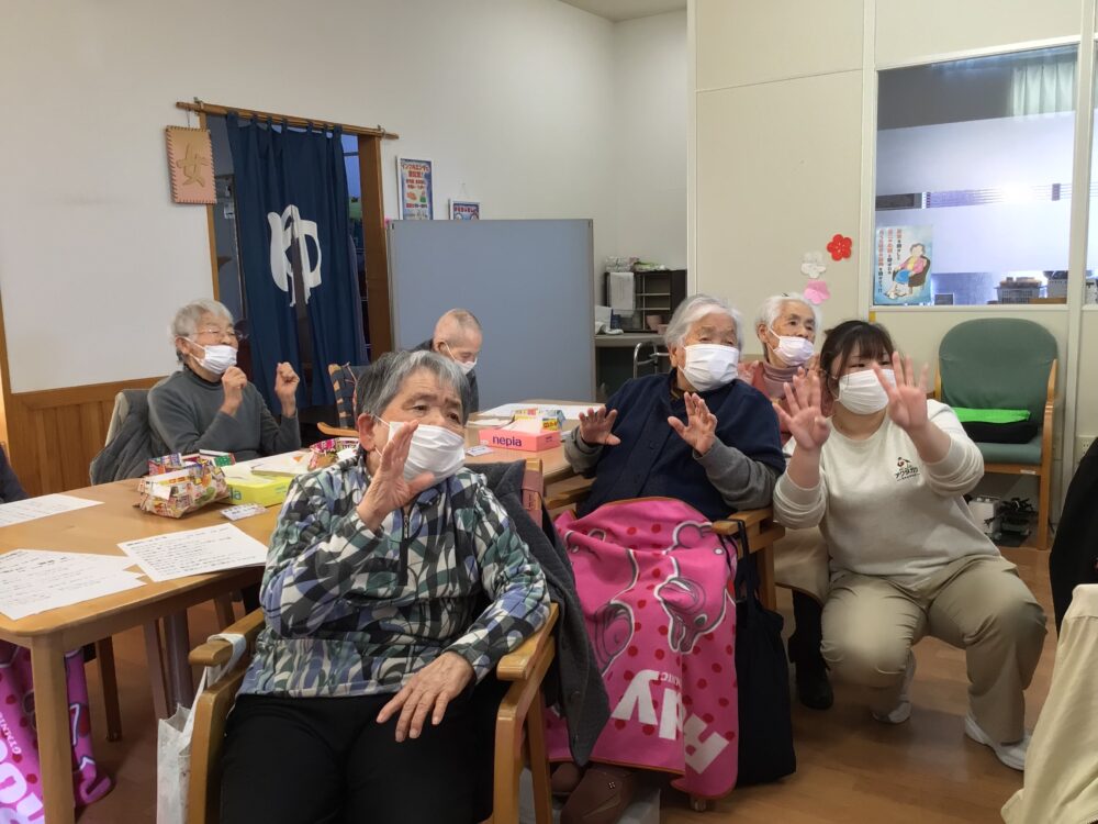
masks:
<svg viewBox="0 0 1098 824"><path fill-rule="evenodd" d="M176 312L171 334L182 368L148 394L149 423L168 449L231 452L237 460L248 460L301 446L293 367L279 364L276 370L279 421L236 366L239 334L224 304L188 303Z"/></svg>

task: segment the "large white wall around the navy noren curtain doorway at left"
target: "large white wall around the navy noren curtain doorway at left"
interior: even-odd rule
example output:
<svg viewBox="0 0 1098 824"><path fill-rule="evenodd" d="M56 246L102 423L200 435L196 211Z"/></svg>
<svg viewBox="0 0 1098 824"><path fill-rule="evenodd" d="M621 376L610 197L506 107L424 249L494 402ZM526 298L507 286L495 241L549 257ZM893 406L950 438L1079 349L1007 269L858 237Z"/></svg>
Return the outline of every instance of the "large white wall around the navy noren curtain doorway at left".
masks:
<svg viewBox="0 0 1098 824"><path fill-rule="evenodd" d="M613 25L558 0L0 0L0 293L12 390L164 375L211 294L206 215L164 126L199 97L357 125L435 166L436 216L592 218L617 254Z"/></svg>

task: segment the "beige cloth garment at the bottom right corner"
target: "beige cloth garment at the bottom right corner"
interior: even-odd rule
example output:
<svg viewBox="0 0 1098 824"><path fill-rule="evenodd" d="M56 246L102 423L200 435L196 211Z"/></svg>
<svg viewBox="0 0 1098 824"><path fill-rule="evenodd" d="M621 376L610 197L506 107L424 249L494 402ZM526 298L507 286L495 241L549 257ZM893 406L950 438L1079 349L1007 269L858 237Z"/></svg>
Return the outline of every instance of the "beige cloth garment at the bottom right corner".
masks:
<svg viewBox="0 0 1098 824"><path fill-rule="evenodd" d="M1007 824L1098 821L1098 584L1076 587L1056 647L1052 688L1026 755L1026 783Z"/></svg>

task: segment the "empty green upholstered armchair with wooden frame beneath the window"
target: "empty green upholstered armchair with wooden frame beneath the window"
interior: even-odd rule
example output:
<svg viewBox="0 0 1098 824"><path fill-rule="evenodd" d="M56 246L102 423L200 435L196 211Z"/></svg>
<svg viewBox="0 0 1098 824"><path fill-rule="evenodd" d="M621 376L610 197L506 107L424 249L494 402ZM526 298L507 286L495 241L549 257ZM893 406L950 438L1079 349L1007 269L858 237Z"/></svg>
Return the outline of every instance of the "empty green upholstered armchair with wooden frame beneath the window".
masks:
<svg viewBox="0 0 1098 824"><path fill-rule="evenodd" d="M935 398L951 407L1026 409L1040 427L1026 444L976 444L984 455L985 471L1038 478L1034 545L1039 549L1049 548L1055 394L1056 339L1032 321L965 321L950 330L938 347Z"/></svg>

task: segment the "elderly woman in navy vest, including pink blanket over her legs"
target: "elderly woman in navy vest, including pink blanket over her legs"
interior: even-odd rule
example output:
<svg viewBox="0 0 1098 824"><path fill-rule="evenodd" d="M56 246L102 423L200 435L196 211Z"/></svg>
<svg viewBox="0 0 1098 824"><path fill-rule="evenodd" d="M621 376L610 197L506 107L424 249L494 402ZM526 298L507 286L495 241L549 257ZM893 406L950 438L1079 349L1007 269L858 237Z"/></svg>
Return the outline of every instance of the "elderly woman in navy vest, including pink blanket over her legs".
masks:
<svg viewBox="0 0 1098 824"><path fill-rule="evenodd" d="M617 821L634 767L677 775L675 787L705 798L735 782L735 761L720 755L737 738L732 564L706 522L768 505L785 468L770 401L737 380L741 330L727 301L692 296L668 325L671 372L630 380L565 441L569 463L594 485L579 519L565 513L557 526L615 709L593 765L565 760L553 773L553 791L569 795L562 824ZM663 690L659 735L654 710L636 709L652 673ZM666 710L676 702L677 725ZM550 713L553 760L567 758L560 732ZM709 751L698 759L702 739Z"/></svg>

